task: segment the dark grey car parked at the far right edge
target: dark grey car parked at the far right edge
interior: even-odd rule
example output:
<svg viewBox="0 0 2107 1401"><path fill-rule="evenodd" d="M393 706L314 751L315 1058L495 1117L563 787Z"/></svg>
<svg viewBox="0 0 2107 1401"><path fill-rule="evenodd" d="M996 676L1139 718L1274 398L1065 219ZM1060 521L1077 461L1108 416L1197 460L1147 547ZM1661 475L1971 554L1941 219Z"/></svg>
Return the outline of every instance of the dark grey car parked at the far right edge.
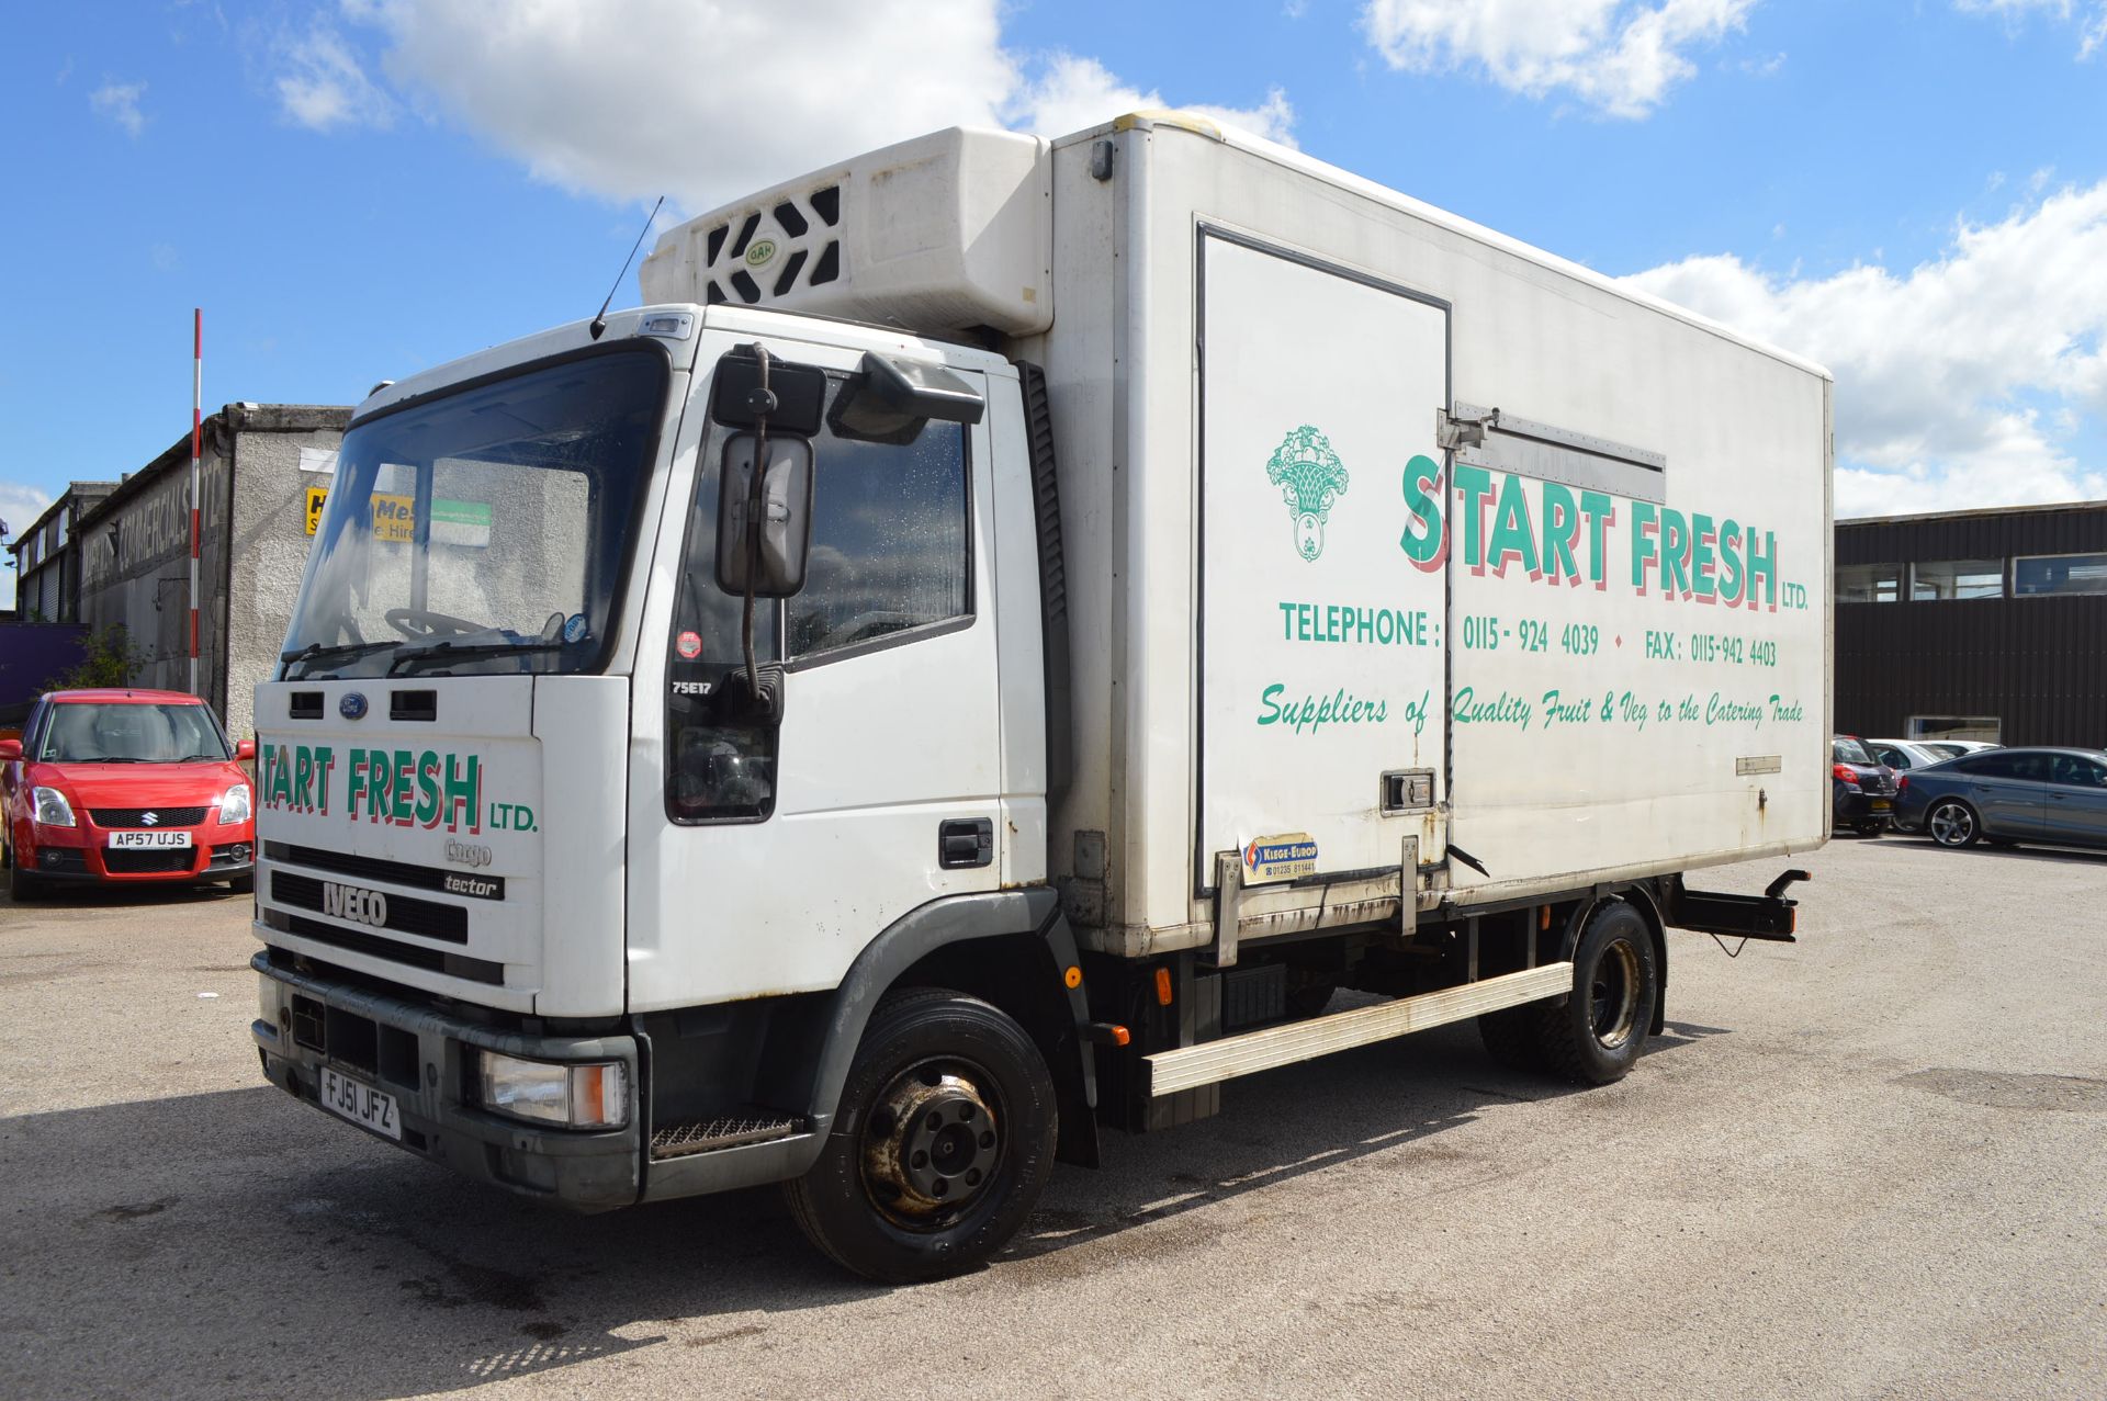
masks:
<svg viewBox="0 0 2107 1401"><path fill-rule="evenodd" d="M2107 849L2107 752L1981 750L1911 769L1896 815L1941 847L2029 841Z"/></svg>

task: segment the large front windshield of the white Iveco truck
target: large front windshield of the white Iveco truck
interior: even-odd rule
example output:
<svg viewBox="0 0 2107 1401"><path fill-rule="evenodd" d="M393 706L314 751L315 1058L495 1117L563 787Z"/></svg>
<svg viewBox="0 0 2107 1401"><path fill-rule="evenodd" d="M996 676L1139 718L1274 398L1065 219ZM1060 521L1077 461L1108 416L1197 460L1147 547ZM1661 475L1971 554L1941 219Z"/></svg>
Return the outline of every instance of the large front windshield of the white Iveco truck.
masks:
<svg viewBox="0 0 2107 1401"><path fill-rule="evenodd" d="M280 678L598 668L666 379L615 350L354 426Z"/></svg>

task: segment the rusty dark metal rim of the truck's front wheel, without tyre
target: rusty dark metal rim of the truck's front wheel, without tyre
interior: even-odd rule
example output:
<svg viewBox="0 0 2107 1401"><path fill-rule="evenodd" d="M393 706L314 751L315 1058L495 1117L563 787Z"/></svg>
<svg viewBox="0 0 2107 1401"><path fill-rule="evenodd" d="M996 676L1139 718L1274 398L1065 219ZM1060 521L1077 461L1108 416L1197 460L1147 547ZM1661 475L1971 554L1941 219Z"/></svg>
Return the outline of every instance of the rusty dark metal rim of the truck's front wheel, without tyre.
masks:
<svg viewBox="0 0 2107 1401"><path fill-rule="evenodd" d="M864 1190L895 1226L942 1230L995 1180L1003 1114L992 1077L963 1060L925 1060L885 1087L864 1129Z"/></svg>

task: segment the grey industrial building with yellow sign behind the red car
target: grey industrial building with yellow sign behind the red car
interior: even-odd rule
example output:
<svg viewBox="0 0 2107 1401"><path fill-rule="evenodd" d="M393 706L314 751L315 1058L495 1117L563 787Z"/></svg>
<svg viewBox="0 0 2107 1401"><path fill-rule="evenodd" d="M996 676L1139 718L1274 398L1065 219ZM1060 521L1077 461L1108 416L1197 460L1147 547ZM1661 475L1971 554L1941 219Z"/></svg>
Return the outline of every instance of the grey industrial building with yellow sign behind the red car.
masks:
<svg viewBox="0 0 2107 1401"><path fill-rule="evenodd" d="M204 419L196 693L236 737L255 731L251 693L278 664L350 417L346 407L228 404ZM192 689L190 436L84 510L70 535L80 621L124 628L135 685Z"/></svg>

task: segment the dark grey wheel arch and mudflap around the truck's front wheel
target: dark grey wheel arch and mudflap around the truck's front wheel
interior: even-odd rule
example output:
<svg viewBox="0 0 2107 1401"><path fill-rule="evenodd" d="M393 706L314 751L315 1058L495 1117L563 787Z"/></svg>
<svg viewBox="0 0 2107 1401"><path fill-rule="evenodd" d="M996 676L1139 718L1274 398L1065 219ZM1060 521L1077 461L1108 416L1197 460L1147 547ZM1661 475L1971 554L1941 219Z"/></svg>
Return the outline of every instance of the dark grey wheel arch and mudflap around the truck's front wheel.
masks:
<svg viewBox="0 0 2107 1401"><path fill-rule="evenodd" d="M1045 887L933 900L887 927L855 963L826 1009L813 1047L813 1129L834 1129L841 1091L870 1013L898 988L950 988L1013 1018L1047 1062L1060 1106L1056 1159L1098 1165L1098 1077L1083 988L1066 986L1081 967L1060 897ZM853 1125L843 1125L853 1127Z"/></svg>

